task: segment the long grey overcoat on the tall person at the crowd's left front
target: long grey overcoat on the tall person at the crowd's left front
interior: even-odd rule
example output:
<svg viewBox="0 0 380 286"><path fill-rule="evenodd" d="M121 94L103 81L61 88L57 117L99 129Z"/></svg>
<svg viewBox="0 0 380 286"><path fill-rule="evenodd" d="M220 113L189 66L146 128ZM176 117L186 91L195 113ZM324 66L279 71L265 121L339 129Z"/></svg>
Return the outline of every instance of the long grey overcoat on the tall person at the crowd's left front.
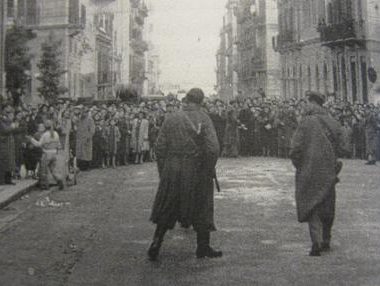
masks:
<svg viewBox="0 0 380 286"><path fill-rule="evenodd" d="M76 157L78 160L92 160L92 138L95 134L94 120L87 116L79 120L76 133Z"/></svg>

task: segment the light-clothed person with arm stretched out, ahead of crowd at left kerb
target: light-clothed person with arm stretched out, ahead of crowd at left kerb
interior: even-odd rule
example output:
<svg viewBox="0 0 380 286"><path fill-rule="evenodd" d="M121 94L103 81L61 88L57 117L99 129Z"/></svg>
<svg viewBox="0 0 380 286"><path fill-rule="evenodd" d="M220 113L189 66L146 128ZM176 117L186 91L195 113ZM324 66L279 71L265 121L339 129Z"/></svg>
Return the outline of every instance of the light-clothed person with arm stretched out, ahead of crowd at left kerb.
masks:
<svg viewBox="0 0 380 286"><path fill-rule="evenodd" d="M58 132L54 130L52 120L45 121L46 131L42 134L39 141L35 140L32 136L27 136L27 139L36 147L42 149L42 158L40 163L39 181L41 189L49 189L49 174L52 175L57 182L59 189L66 188L66 178L63 170L57 167L58 152L61 149L61 142Z"/></svg>

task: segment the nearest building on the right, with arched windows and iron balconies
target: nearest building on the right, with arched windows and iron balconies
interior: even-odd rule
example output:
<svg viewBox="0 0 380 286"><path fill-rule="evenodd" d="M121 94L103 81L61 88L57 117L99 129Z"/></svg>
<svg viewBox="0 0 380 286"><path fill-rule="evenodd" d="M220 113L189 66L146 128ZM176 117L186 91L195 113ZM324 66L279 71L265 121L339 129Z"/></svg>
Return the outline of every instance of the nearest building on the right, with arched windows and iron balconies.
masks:
<svg viewBox="0 0 380 286"><path fill-rule="evenodd" d="M337 100L367 103L378 88L380 16L377 1L281 0L282 95L317 90Z"/></svg>

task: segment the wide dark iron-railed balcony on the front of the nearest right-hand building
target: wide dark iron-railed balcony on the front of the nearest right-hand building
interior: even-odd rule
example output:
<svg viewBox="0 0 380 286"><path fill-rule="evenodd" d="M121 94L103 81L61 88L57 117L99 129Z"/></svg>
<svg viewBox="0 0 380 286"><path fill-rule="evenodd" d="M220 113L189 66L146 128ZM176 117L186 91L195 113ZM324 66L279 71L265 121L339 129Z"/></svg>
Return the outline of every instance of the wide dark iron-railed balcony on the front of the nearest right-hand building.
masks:
<svg viewBox="0 0 380 286"><path fill-rule="evenodd" d="M364 21L353 19L336 24L321 23L318 32L324 46L363 44L365 39Z"/></svg>

